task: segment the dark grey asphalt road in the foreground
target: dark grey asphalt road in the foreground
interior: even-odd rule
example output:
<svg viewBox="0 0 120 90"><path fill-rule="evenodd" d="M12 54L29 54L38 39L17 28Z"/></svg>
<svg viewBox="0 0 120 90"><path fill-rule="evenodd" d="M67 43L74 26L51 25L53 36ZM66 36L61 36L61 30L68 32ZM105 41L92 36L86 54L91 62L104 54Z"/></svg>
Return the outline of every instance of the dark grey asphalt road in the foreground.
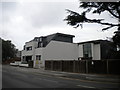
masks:
<svg viewBox="0 0 120 90"><path fill-rule="evenodd" d="M90 88L110 90L119 87L119 83L74 80L27 72L8 65L2 67L2 88Z"/></svg>

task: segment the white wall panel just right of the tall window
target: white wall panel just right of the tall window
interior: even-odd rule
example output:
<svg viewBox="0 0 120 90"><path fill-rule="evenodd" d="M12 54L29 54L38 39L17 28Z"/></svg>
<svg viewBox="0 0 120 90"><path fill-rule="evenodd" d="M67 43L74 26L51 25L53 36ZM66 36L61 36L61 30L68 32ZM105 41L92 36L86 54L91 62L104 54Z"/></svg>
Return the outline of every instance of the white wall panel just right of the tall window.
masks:
<svg viewBox="0 0 120 90"><path fill-rule="evenodd" d="M93 45L93 60L100 60L100 44Z"/></svg>

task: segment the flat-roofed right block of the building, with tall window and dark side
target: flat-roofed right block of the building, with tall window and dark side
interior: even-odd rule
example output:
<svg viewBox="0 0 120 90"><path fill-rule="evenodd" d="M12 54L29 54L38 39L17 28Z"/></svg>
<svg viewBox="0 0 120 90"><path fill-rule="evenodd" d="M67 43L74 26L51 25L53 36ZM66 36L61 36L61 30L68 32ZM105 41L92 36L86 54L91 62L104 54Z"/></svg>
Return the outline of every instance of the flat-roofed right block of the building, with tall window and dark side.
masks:
<svg viewBox="0 0 120 90"><path fill-rule="evenodd" d="M116 46L107 40L93 40L78 43L78 59L80 60L103 60L112 59L113 51L116 51Z"/></svg>

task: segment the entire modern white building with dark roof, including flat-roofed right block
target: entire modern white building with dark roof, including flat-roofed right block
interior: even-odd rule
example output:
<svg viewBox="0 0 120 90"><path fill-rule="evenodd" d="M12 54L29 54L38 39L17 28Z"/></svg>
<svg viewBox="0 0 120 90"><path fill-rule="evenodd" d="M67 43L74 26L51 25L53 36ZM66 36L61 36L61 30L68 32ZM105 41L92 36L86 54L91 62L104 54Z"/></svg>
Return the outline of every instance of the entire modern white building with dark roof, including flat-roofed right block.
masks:
<svg viewBox="0 0 120 90"><path fill-rule="evenodd" d="M114 49L107 40L73 43L73 37L62 33L35 37L25 43L21 61L33 61L34 68L44 69L46 60L101 60Z"/></svg>

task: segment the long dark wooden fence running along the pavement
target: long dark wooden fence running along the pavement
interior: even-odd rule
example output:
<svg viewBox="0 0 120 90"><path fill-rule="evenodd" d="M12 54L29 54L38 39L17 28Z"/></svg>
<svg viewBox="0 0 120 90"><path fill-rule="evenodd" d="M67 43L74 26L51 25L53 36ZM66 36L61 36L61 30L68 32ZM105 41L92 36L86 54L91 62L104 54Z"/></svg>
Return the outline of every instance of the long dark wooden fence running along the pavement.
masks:
<svg viewBox="0 0 120 90"><path fill-rule="evenodd" d="M95 73L95 74L120 74L120 60L79 60L79 61L45 61L45 70Z"/></svg>

